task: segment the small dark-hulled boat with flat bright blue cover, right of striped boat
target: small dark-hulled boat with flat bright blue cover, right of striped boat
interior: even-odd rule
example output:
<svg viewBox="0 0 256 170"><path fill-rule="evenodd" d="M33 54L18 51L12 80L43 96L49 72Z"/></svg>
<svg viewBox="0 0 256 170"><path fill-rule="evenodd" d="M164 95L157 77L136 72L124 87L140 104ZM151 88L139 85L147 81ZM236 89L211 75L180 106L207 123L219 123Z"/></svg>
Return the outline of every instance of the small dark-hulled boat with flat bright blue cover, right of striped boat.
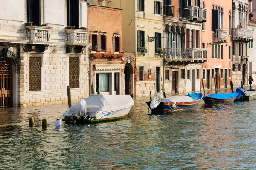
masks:
<svg viewBox="0 0 256 170"><path fill-rule="evenodd" d="M233 103L236 99L236 96L239 93L232 92L232 93L217 93L217 94L210 94L208 96L204 96L203 100L205 104L227 104L227 103Z"/></svg>

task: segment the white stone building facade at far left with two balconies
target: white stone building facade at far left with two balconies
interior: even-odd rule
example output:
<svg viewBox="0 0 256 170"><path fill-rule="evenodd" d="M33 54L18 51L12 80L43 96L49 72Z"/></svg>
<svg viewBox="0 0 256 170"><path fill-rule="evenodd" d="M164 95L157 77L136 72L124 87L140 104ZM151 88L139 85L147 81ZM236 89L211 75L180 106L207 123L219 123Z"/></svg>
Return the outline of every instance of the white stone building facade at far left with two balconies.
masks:
<svg viewBox="0 0 256 170"><path fill-rule="evenodd" d="M0 107L67 103L67 85L73 103L89 96L87 0L6 1L0 11Z"/></svg>

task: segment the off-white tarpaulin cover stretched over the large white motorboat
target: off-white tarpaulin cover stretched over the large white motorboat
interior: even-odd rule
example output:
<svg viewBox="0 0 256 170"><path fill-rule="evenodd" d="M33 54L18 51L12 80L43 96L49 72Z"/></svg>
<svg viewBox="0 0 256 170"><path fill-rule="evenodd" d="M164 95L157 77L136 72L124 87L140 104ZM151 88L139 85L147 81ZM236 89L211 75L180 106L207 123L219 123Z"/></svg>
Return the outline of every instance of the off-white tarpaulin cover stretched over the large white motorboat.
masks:
<svg viewBox="0 0 256 170"><path fill-rule="evenodd" d="M97 111L108 112L134 105L130 95L92 94L85 101L88 113L96 113Z"/></svg>

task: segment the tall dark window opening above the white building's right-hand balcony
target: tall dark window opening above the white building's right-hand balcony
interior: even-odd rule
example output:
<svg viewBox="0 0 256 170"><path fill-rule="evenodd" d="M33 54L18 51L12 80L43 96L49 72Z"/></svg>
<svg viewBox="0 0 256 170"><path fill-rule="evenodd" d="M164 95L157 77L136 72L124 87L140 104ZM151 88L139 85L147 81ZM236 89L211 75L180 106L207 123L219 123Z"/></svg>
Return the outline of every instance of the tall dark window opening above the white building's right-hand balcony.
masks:
<svg viewBox="0 0 256 170"><path fill-rule="evenodd" d="M67 0L67 26L79 28L79 0Z"/></svg>

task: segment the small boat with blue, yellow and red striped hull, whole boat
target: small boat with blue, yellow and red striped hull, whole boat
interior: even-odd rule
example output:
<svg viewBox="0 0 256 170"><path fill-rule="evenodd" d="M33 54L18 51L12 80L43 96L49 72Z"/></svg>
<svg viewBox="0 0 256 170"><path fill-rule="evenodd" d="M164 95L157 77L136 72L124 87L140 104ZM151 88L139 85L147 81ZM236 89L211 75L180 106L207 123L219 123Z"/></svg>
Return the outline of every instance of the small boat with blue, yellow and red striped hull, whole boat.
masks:
<svg viewBox="0 0 256 170"><path fill-rule="evenodd" d="M146 102L152 112L173 112L195 108L203 97L203 93L169 96L163 99L162 94L154 95L153 100Z"/></svg>

